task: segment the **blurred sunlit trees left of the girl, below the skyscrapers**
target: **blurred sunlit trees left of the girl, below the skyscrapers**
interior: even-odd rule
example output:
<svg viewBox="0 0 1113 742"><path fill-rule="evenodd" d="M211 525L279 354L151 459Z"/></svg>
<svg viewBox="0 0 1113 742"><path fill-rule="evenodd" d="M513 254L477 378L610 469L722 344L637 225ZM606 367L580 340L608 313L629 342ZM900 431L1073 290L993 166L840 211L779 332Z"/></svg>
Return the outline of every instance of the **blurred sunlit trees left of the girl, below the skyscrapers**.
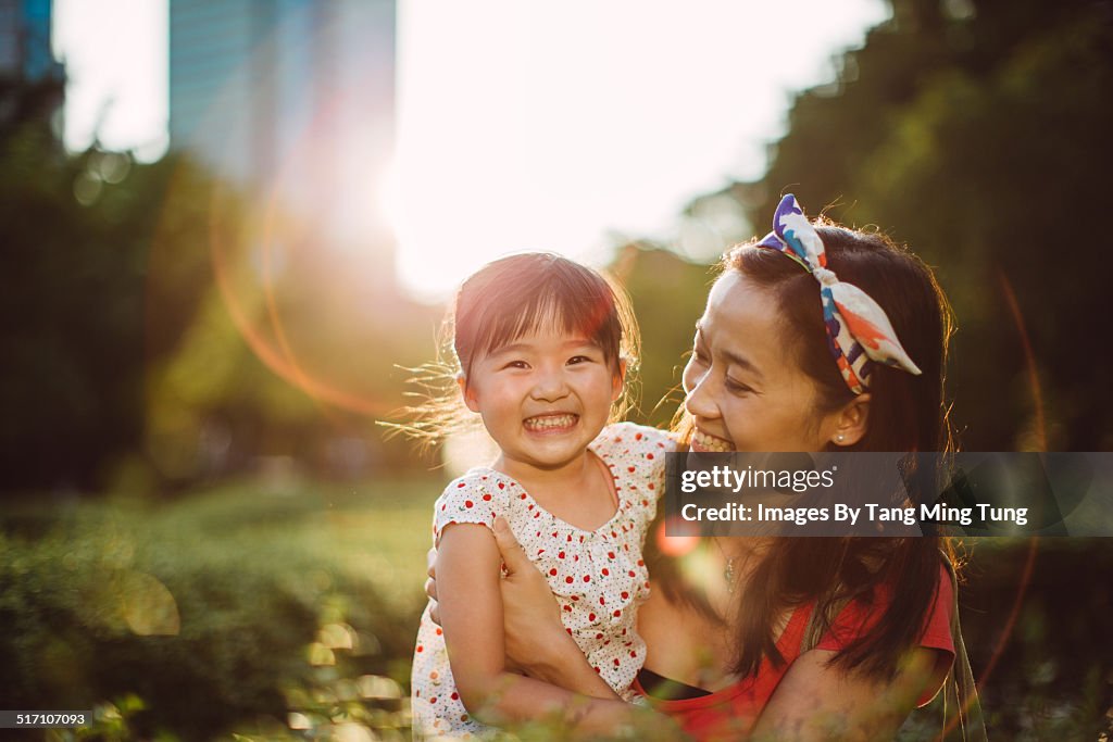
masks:
<svg viewBox="0 0 1113 742"><path fill-rule="evenodd" d="M371 416L403 404L395 365L427 357L440 309L181 155L67 154L40 108L0 131L0 491L410 464Z"/></svg>

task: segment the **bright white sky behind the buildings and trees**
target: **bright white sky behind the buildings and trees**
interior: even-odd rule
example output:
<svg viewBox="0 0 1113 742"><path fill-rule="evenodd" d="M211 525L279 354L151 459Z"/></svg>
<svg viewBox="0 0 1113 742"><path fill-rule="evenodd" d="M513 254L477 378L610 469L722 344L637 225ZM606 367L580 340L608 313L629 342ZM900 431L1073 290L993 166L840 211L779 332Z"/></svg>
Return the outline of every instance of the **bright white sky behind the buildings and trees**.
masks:
<svg viewBox="0 0 1113 742"><path fill-rule="evenodd" d="M883 0L398 0L397 155L378 189L403 284L441 299L506 253L600 265L621 239L680 244L684 205L759 177L791 92L829 81L886 13ZM167 0L55 0L71 149L98 131L140 159L165 152L167 16Z"/></svg>

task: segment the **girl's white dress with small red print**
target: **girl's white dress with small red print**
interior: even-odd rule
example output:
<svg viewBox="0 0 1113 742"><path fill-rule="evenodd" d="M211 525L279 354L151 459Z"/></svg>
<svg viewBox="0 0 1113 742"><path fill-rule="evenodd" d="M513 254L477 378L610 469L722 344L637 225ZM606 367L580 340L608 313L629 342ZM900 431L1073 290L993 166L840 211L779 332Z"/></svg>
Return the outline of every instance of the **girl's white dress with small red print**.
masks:
<svg viewBox="0 0 1113 742"><path fill-rule="evenodd" d="M561 617L588 662L622 698L646 660L646 643L634 631L637 606L649 596L641 558L664 481L664 454L672 441L656 428L609 425L589 446L614 476L619 505L595 531L578 528L549 513L513 478L492 468L473 468L437 498L433 542L452 523L493 526L506 518L522 550L549 581ZM456 692L440 626L422 615L411 675L415 736L482 735Z"/></svg>

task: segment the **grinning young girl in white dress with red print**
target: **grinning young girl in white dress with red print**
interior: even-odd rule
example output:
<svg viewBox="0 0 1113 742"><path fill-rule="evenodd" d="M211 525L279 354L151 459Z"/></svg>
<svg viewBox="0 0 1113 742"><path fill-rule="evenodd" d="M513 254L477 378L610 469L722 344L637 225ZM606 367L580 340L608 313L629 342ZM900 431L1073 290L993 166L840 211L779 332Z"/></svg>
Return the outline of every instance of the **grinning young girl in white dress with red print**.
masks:
<svg viewBox="0 0 1113 742"><path fill-rule="evenodd" d="M480 720L554 711L590 726L575 718L571 693L505 666L492 528L505 520L548 580L565 631L630 699L646 657L634 631L649 588L641 547L672 448L657 429L608 425L636 363L632 314L593 270L526 254L464 281L453 330L463 402L501 453L436 501L441 626L426 609L413 662L414 730L470 736L486 729Z"/></svg>

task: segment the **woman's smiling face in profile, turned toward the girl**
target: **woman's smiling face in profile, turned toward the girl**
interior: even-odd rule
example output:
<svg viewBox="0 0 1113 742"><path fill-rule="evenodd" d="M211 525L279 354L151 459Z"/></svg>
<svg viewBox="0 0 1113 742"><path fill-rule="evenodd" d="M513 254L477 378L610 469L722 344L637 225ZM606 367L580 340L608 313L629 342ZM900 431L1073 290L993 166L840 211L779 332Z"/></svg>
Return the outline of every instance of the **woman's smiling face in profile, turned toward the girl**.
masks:
<svg viewBox="0 0 1113 742"><path fill-rule="evenodd" d="M837 413L818 412L776 296L737 270L711 288L683 386L696 451L823 451L838 431Z"/></svg>

